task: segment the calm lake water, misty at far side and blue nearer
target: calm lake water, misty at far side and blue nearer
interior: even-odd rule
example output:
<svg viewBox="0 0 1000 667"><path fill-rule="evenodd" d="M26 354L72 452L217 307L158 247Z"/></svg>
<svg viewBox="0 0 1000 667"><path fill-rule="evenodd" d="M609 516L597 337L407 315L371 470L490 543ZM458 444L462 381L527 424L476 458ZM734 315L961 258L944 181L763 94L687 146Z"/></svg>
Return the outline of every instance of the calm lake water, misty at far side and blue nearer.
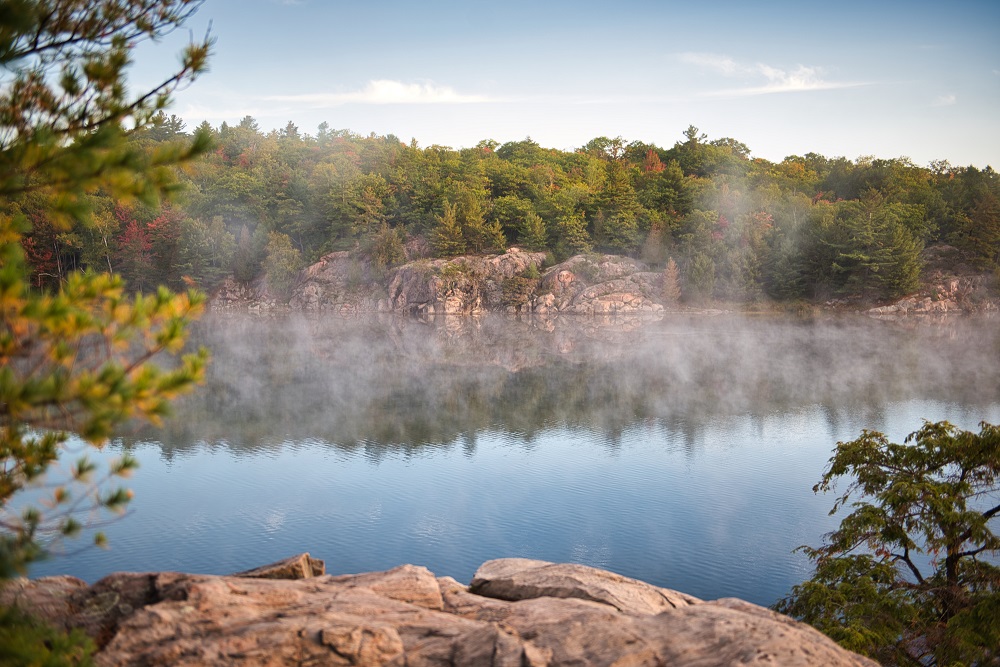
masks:
<svg viewBox="0 0 1000 667"><path fill-rule="evenodd" d="M141 463L111 550L32 575L522 556L770 604L838 521L838 440L1000 421L998 324L213 315L207 385L106 449Z"/></svg>

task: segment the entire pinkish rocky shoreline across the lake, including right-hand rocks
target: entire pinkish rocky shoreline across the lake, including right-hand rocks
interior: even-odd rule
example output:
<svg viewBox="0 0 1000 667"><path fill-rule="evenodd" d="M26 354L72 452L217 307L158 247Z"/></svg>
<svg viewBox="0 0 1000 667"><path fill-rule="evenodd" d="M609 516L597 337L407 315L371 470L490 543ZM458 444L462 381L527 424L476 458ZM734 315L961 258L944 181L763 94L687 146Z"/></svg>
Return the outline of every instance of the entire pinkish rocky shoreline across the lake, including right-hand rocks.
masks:
<svg viewBox="0 0 1000 667"><path fill-rule="evenodd" d="M950 255L941 247L927 254L936 266L948 265L941 257ZM228 280L212 295L211 305L215 310L256 313L291 310L421 317L488 312L660 317L670 311L719 311L718 304L694 307L678 302L677 286L668 284L671 278L628 257L576 255L543 270L544 262L543 253L511 248L501 255L424 259L379 272L348 252L334 252L304 269L285 298L272 294L266 279L250 285ZM937 268L928 272L919 292L894 303L834 299L816 307L891 318L995 311L1000 299L986 288L986 282L981 275L956 275ZM759 309L760 304L754 307Z"/></svg>

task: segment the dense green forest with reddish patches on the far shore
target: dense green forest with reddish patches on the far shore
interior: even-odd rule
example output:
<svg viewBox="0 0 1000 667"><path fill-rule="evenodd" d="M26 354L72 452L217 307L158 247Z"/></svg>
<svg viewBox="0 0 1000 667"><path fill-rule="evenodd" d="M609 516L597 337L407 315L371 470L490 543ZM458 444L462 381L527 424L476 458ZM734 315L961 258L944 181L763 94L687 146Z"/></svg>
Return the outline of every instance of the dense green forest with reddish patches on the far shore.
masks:
<svg viewBox="0 0 1000 667"><path fill-rule="evenodd" d="M376 271L422 257L590 251L653 267L673 260L685 300L877 300L912 292L923 249L954 246L974 271L1000 275L1000 178L991 167L814 153L751 157L695 127L669 148L598 137L576 151L530 138L421 148L393 135L321 124L263 131L162 112L130 141L150 151L195 134L212 149L158 208L91 195L94 224L62 229L44 191L16 203L34 287L74 269L111 271L133 289L211 291L226 277L268 276L280 293L325 253L348 250ZM16 211L15 211L16 212Z"/></svg>

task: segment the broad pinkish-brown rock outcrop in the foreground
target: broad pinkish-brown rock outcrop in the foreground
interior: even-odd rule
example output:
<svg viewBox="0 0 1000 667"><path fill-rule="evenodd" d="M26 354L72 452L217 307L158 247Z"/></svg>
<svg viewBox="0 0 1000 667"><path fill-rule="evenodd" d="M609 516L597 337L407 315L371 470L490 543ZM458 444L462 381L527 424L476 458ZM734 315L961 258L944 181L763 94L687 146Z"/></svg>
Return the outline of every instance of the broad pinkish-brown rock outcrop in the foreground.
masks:
<svg viewBox="0 0 1000 667"><path fill-rule="evenodd" d="M471 587L413 565L315 576L308 555L257 572L276 571L302 578L51 577L0 602L84 629L107 666L876 665L762 607L583 565L490 561Z"/></svg>

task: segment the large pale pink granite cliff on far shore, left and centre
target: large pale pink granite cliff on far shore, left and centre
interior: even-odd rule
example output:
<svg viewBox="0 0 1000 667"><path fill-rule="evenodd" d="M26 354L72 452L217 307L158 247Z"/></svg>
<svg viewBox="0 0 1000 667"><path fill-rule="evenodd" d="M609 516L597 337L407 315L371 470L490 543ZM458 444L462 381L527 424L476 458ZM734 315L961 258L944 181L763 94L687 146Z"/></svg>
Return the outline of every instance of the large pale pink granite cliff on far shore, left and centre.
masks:
<svg viewBox="0 0 1000 667"><path fill-rule="evenodd" d="M617 315L663 310L662 276L642 262L615 255L578 255L542 273L544 261L544 253L511 248L502 255L419 260L379 273L347 252L335 252L302 271L287 306L345 315ZM248 286L227 282L213 304L253 311L285 305L268 294L264 282Z"/></svg>

